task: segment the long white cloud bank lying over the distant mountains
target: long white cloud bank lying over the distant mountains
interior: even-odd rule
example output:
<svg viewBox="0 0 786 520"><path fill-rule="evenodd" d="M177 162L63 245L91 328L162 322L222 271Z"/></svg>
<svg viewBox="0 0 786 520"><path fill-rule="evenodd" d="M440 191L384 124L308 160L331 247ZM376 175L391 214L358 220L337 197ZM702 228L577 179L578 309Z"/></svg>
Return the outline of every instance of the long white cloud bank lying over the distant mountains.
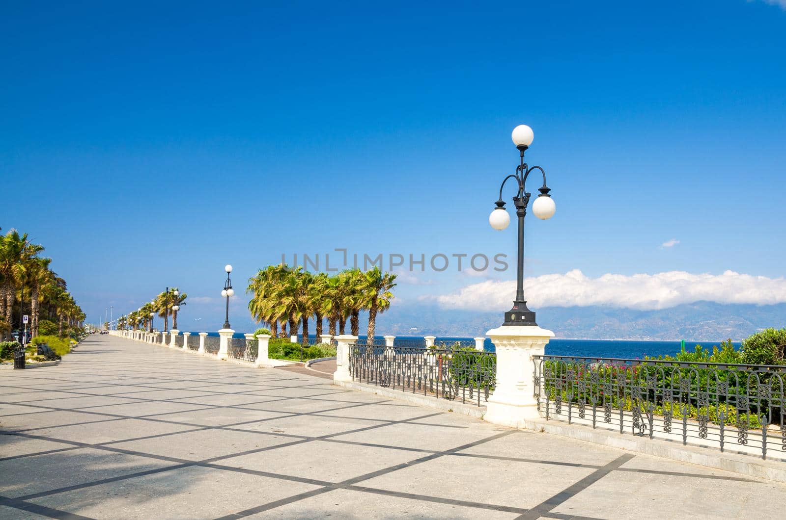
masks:
<svg viewBox="0 0 786 520"><path fill-rule="evenodd" d="M527 302L548 306L612 306L631 309L667 309L708 300L719 303L769 305L786 302L786 279L726 271L722 275L669 271L656 274L604 274L589 278L578 269L524 280ZM516 294L514 280L486 280L450 295L434 296L450 309L507 309Z"/></svg>

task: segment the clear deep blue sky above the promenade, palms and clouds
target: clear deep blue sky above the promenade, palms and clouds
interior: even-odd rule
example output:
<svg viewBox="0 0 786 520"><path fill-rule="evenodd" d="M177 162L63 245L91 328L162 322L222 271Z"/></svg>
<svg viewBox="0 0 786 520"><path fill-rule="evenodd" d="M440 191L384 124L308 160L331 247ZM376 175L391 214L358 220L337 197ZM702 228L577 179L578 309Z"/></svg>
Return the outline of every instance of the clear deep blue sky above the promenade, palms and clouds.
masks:
<svg viewBox="0 0 786 520"><path fill-rule="evenodd" d="M218 326L227 262L238 288L336 247L513 265L487 217L527 123L557 205L527 219L528 276L780 283L782 3L6 4L0 226L89 320L178 285ZM404 273L398 295L514 277Z"/></svg>

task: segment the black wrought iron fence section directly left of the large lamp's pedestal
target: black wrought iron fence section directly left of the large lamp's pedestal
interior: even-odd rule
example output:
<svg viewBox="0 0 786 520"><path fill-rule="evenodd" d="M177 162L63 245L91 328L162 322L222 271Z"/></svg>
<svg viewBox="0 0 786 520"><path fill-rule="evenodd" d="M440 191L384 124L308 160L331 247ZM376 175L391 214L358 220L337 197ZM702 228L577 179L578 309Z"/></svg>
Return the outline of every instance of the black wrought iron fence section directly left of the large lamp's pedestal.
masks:
<svg viewBox="0 0 786 520"><path fill-rule="evenodd" d="M497 356L477 350L350 345L352 379L480 406L494 390Z"/></svg>

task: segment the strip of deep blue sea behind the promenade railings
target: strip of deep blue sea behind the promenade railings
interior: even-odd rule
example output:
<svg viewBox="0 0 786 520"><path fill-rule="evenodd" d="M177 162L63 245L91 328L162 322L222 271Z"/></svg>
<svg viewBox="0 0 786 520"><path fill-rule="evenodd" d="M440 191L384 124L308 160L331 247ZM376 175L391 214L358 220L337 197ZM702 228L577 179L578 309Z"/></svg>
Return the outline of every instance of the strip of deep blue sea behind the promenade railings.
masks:
<svg viewBox="0 0 786 520"><path fill-rule="evenodd" d="M192 335L196 335L192 332ZM210 336L218 336L218 332L208 332ZM242 332L235 332L235 338L244 338ZM365 335L360 336L365 339ZM398 339L422 340L423 336L396 336ZM375 339L384 340L383 336L375 336ZM465 337L442 337L440 341L472 341L472 338ZM722 340L718 341L688 341L685 340L685 350L692 352L696 345L712 349L713 346L720 346ZM734 348L739 350L740 343L733 343ZM483 344L485 350L494 352L494 344L490 339L486 339ZM577 356L577 357L626 357L643 358L645 356L674 355L681 348L679 341L643 341L636 339L552 339L545 347L545 353L550 356Z"/></svg>

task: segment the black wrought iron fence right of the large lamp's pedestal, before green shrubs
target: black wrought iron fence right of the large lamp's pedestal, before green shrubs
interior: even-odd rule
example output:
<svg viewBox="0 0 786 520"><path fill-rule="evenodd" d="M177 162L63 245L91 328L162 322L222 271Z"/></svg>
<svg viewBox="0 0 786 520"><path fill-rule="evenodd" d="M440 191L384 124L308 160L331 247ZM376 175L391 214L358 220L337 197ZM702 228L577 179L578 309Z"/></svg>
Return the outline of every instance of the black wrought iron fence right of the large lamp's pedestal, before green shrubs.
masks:
<svg viewBox="0 0 786 520"><path fill-rule="evenodd" d="M786 366L534 356L546 419L634 435L786 453ZM770 453L772 455L772 453Z"/></svg>

